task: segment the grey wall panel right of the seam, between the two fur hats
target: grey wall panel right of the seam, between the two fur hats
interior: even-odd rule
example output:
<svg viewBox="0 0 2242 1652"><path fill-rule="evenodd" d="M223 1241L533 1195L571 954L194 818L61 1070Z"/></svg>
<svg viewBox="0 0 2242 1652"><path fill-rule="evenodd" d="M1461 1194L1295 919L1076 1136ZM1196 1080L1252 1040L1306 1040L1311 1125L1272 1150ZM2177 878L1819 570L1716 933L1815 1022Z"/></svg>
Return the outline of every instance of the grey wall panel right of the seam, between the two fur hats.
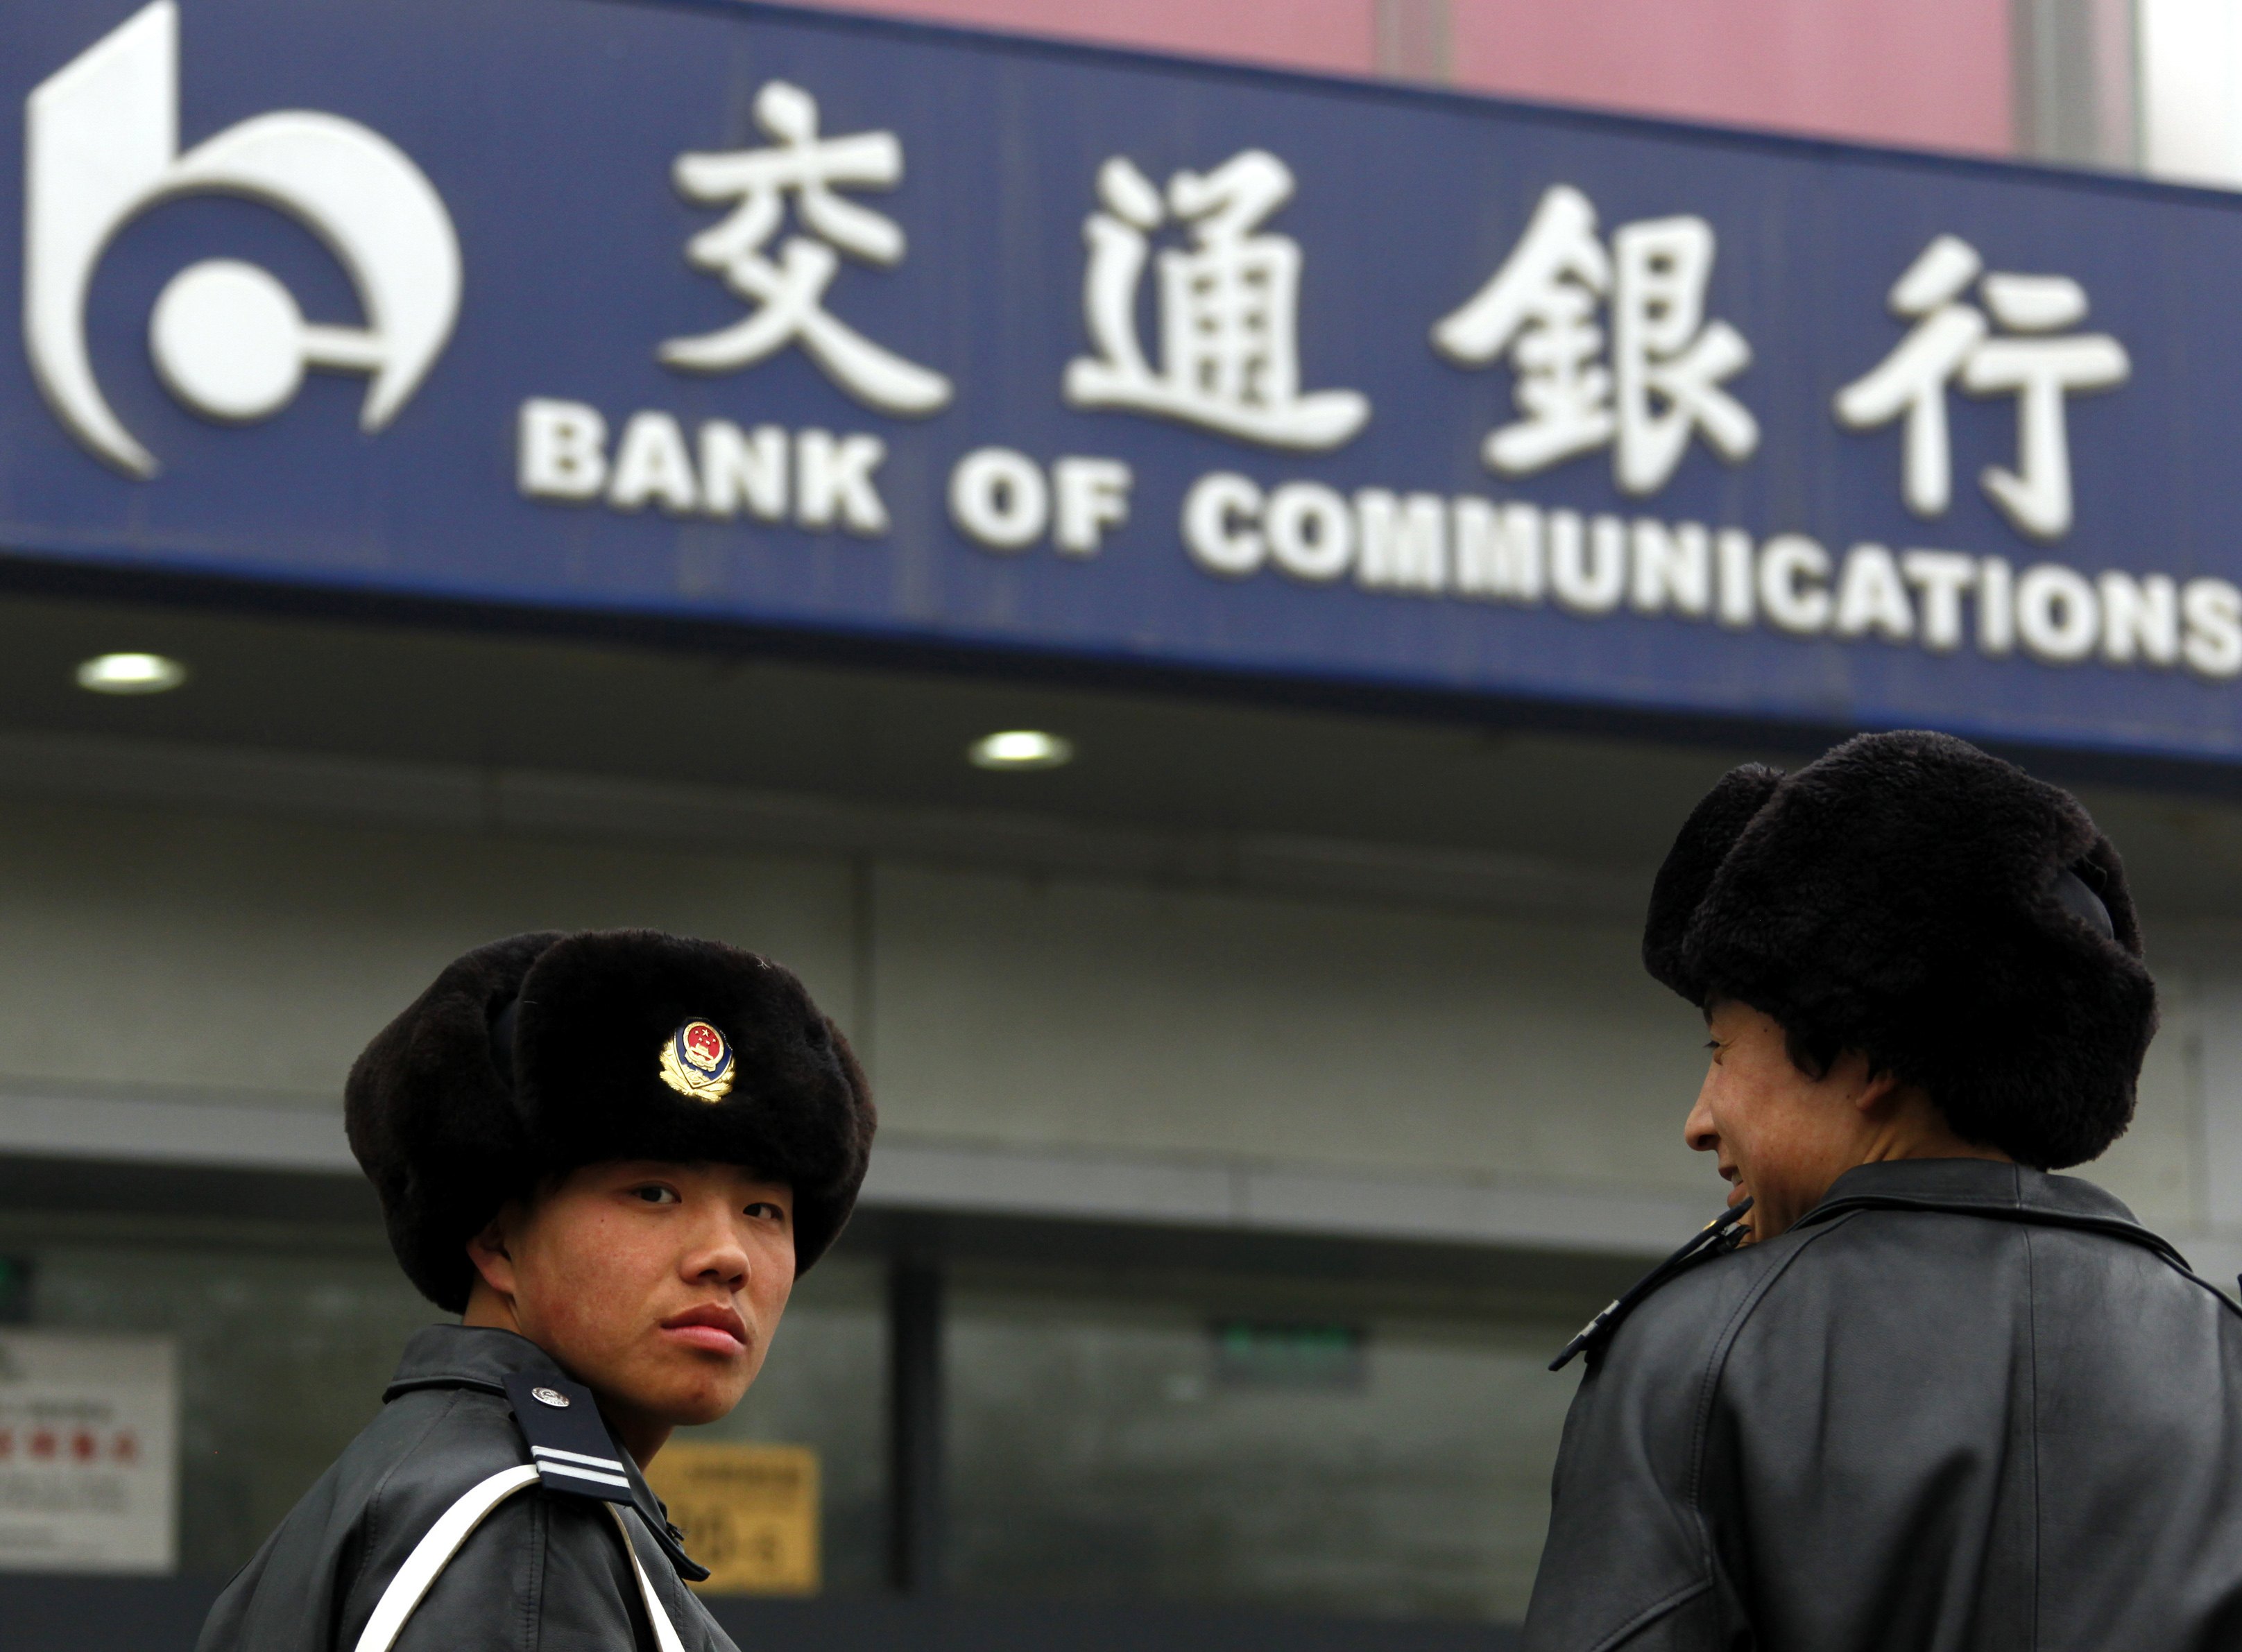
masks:
<svg viewBox="0 0 2242 1652"><path fill-rule="evenodd" d="M1704 1190L1686 1004L1603 924L883 867L899 1127Z"/></svg>

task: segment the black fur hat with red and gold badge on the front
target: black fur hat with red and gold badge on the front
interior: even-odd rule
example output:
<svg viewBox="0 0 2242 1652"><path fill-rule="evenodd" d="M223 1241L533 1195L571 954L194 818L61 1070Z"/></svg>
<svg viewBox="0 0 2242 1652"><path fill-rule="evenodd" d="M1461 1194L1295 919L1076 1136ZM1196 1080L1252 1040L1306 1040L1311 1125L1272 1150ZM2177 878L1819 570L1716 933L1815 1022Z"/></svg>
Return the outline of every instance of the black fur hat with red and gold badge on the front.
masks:
<svg viewBox="0 0 2242 1652"><path fill-rule="evenodd" d="M343 1119L397 1260L453 1314L498 1208L601 1159L789 1184L803 1273L856 1204L874 1125L847 1040L789 971L655 930L478 946L365 1047Z"/></svg>

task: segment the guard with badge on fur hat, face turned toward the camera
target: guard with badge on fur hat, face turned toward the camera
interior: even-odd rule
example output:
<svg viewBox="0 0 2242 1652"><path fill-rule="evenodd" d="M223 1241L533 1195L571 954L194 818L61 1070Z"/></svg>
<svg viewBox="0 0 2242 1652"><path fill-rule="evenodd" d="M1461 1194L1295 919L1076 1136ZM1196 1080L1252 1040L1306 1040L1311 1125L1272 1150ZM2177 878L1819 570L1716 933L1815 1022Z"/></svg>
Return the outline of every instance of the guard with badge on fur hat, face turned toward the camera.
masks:
<svg viewBox="0 0 2242 1652"><path fill-rule="evenodd" d="M847 1222L872 1101L803 984L650 930L518 935L352 1067L419 1331L200 1652L733 1652L641 1468L729 1412Z"/></svg>

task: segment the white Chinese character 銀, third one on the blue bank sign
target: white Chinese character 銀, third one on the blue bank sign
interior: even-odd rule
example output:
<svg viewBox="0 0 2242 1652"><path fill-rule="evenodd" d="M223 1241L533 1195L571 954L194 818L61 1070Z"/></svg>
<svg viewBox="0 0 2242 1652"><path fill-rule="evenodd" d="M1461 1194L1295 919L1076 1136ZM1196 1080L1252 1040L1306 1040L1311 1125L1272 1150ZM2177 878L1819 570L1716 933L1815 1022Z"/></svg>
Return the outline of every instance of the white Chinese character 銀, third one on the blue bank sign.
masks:
<svg viewBox="0 0 2242 1652"><path fill-rule="evenodd" d="M1518 247L1471 300L1433 327L1448 361L1484 368L1509 356L1525 415L1486 437L1489 468L1529 475L1601 446L1625 493L1652 493L1702 435L1722 460L1751 457L1760 424L1729 395L1751 345L1704 318L1713 229L1702 217L1621 224L1605 251L1596 206L1551 186ZM1603 365L1596 312L1610 305Z"/></svg>

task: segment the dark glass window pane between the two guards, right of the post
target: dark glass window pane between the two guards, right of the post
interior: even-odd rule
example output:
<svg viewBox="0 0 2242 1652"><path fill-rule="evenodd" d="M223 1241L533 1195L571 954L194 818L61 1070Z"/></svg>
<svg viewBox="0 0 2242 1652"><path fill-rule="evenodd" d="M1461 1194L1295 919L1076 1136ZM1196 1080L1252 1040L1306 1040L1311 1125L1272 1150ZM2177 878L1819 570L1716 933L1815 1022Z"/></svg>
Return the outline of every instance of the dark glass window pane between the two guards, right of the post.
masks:
<svg viewBox="0 0 2242 1652"><path fill-rule="evenodd" d="M1518 1621L1569 1309L1365 1284L964 1269L946 1381L966 1594Z"/></svg>

